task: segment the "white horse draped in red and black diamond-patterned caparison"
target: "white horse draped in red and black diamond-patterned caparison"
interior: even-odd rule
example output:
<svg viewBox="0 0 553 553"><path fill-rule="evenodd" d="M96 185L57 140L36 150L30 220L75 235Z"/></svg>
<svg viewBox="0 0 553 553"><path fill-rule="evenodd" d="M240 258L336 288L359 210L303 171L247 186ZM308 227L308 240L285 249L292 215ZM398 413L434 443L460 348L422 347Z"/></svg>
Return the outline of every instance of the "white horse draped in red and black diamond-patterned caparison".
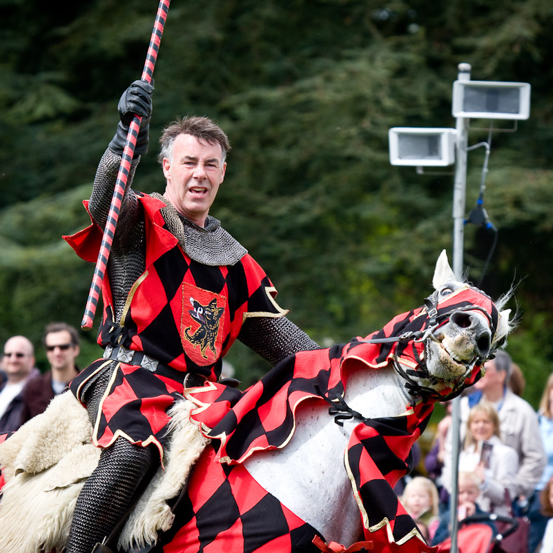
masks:
<svg viewBox="0 0 553 553"><path fill-rule="evenodd" d="M122 550L134 543L157 553L320 552L325 542L335 542L333 551L354 543L358 550L428 551L393 487L410 469L411 447L433 403L474 384L510 331L510 312L502 311L508 295L494 302L458 282L445 252L433 284L422 307L369 336L297 353L244 392L213 382L188 391L172 411L166 470L131 514ZM188 476L182 427L192 428L202 447L172 513L181 478ZM37 521L26 521L19 507L8 522L8 502L3 505L26 474L5 467L3 448L12 438L0 446L7 481L0 523L27 531ZM79 479L68 478L78 494ZM21 544L4 547L17 539L0 537L1 550L26 551ZM54 548L39 534L36 540Z"/></svg>

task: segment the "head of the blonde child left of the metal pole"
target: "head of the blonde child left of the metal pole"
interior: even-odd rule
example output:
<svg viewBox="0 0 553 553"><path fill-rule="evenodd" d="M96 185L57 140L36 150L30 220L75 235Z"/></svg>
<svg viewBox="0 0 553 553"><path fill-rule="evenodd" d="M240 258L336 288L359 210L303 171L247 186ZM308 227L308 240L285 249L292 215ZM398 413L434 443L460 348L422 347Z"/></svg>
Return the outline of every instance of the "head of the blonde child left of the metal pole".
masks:
<svg viewBox="0 0 553 553"><path fill-rule="evenodd" d="M401 503L417 523L420 522L426 526L430 542L440 523L438 489L434 482L425 476L415 476L405 486Z"/></svg>

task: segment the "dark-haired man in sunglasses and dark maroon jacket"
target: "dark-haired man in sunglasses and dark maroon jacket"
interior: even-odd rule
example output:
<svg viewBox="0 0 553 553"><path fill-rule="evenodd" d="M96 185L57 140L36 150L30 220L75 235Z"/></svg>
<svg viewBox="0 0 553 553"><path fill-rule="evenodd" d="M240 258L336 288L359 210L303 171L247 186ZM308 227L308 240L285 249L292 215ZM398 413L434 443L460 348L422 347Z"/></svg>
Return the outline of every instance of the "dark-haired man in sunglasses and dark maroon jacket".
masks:
<svg viewBox="0 0 553 553"><path fill-rule="evenodd" d="M50 370L32 378L23 390L21 424L42 413L54 396L61 394L79 369L75 360L79 356L79 333L65 322L48 324L42 336Z"/></svg>

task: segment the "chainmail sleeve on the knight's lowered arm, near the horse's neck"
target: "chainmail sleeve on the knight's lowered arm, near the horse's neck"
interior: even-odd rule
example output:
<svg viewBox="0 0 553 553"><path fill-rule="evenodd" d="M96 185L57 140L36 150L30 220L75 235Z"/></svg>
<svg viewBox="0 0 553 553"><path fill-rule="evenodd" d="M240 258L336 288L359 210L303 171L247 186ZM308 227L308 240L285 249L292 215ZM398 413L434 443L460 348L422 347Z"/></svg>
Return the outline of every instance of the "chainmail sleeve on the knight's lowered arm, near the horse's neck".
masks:
<svg viewBox="0 0 553 553"><path fill-rule="evenodd" d="M287 317L247 318L238 340L273 367L293 353L320 347Z"/></svg>

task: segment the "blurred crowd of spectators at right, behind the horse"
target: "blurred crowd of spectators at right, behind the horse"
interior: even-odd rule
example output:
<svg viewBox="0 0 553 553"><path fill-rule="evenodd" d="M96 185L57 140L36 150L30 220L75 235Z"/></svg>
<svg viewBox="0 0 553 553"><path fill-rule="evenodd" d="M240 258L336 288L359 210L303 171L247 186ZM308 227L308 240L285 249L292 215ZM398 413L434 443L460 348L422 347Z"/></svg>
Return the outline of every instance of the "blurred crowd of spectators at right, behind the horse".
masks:
<svg viewBox="0 0 553 553"><path fill-rule="evenodd" d="M440 552L451 545L455 510L450 497L456 481L460 553L552 553L553 373L535 411L521 397L525 378L506 351L497 351L484 368L485 375L460 398L460 436L452 436L452 402L447 402L420 469L396 492ZM516 532L498 541L494 536L506 534L514 519Z"/></svg>

